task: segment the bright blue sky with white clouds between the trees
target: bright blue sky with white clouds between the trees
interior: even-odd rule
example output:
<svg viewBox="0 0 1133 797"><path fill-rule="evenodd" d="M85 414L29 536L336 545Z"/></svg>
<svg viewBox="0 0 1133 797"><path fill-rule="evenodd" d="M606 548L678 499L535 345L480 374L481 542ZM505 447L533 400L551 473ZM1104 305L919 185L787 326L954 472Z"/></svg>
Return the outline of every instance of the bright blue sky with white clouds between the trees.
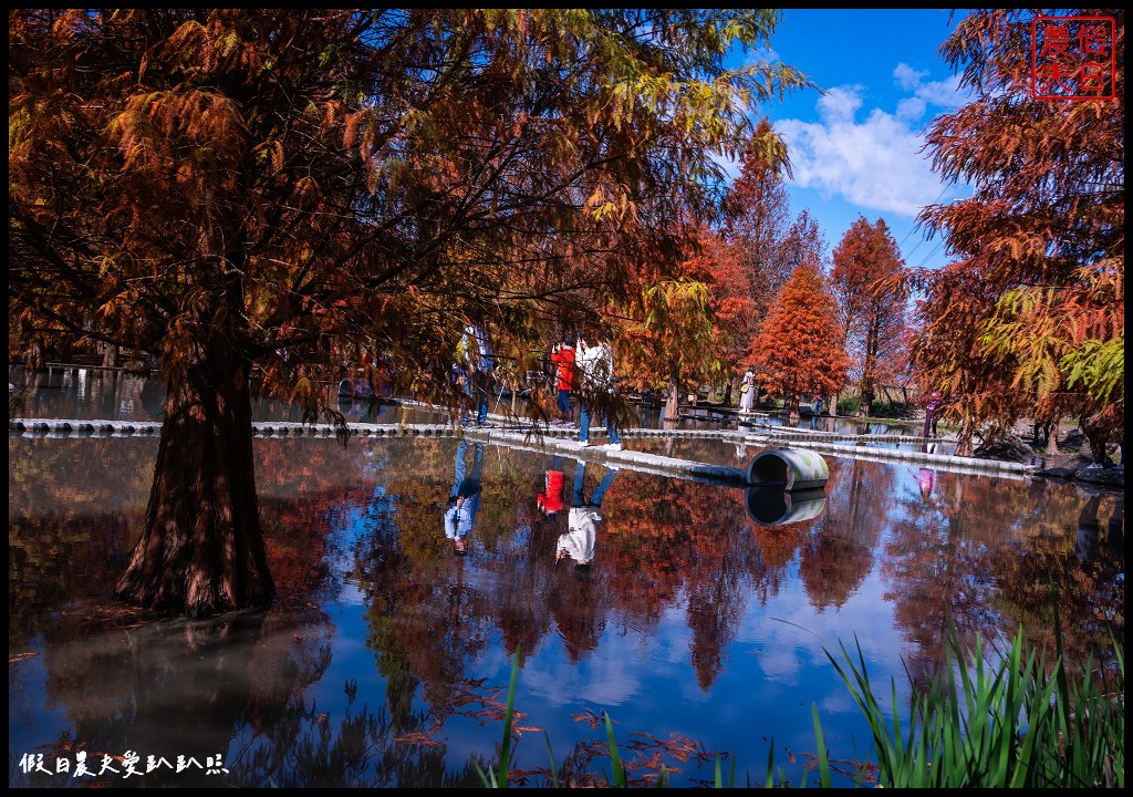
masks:
<svg viewBox="0 0 1133 797"><path fill-rule="evenodd" d="M830 252L863 215L885 220L906 265L947 262L940 236L914 227L923 205L971 193L946 185L921 152L932 118L965 101L938 54L953 27L938 9L786 9L772 52L747 53L747 62L782 60L826 91L763 110L789 147L791 214L808 210Z"/></svg>

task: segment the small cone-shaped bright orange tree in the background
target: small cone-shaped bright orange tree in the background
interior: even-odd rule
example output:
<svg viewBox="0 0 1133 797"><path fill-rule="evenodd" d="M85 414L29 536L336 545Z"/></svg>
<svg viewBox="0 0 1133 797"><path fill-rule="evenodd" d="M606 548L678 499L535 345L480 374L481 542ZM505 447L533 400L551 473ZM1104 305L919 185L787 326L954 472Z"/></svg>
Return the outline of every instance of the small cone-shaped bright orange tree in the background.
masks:
<svg viewBox="0 0 1133 797"><path fill-rule="evenodd" d="M802 393L828 396L842 389L849 357L834 298L813 261L795 268L753 348L760 381L768 393L784 398L792 415L799 412Z"/></svg>

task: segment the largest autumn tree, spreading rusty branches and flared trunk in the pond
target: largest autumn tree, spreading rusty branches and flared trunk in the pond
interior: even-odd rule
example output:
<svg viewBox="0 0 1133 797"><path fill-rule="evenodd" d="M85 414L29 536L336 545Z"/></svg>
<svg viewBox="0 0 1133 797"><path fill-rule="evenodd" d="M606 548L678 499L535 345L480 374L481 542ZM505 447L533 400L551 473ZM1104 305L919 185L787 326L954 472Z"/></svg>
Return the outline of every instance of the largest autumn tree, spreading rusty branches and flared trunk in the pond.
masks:
<svg viewBox="0 0 1133 797"><path fill-rule="evenodd" d="M504 349L673 262L749 115L746 9L15 9L9 341L153 356L168 385L119 597L263 605L254 390L326 413L393 356L442 396L468 322ZM253 379L255 376L255 379Z"/></svg>

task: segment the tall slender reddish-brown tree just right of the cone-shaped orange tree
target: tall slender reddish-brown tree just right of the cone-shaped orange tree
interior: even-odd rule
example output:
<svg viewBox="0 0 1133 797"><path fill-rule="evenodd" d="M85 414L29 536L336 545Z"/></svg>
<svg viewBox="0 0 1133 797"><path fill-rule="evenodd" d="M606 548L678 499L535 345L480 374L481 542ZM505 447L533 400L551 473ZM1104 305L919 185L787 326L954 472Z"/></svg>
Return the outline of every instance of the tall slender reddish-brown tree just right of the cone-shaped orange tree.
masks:
<svg viewBox="0 0 1133 797"><path fill-rule="evenodd" d="M850 224L833 257L830 288L861 389L859 412L866 417L878 380L892 380L903 362L905 263L885 221L870 223L864 217Z"/></svg>

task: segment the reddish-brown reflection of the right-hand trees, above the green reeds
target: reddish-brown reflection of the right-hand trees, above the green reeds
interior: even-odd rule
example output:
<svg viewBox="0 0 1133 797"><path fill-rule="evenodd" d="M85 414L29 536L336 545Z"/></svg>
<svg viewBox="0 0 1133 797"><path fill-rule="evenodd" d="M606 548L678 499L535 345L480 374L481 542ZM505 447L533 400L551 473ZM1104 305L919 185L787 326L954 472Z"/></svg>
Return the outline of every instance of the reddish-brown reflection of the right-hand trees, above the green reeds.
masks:
<svg viewBox="0 0 1133 797"><path fill-rule="evenodd" d="M1106 551L1083 568L1074 553L1073 525L1081 503L1066 484L1020 490L991 476L951 473L938 474L928 500L917 494L902 502L883 575L896 622L912 643L906 663L918 680L944 667L953 627L966 647L979 636L1003 652L1022 625L1053 663L1050 578L1063 628L1075 629L1065 637L1068 661L1108 647L1102 613L1123 638L1124 584L1116 577L1124 571L1123 543L1121 554ZM1108 545L1119 535L1099 536Z"/></svg>

